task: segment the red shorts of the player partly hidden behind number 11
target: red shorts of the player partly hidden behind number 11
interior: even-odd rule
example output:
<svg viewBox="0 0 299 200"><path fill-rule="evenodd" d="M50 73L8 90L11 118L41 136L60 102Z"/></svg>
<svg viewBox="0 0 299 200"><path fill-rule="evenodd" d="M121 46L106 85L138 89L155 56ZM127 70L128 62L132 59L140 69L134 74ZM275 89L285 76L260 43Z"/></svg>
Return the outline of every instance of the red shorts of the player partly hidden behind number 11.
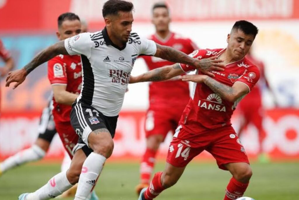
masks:
<svg viewBox="0 0 299 200"><path fill-rule="evenodd" d="M55 119L54 119L55 121ZM71 126L71 122L57 122L55 121L55 126L57 133L61 139L63 147L68 152L68 155L73 158L73 148L77 145L78 142L78 135L76 134L75 130Z"/></svg>

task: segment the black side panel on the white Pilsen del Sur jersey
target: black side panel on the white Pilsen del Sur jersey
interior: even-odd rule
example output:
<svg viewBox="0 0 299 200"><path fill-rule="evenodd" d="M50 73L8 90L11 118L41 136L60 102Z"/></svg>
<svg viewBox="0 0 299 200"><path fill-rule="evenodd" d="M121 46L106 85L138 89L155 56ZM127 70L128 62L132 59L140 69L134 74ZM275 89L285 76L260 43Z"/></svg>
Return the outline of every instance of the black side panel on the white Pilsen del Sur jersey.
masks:
<svg viewBox="0 0 299 200"><path fill-rule="evenodd" d="M92 104L94 93L94 74L92 72L91 64L85 55L81 55L82 60L82 75L83 75L83 88L80 101L87 105Z"/></svg>

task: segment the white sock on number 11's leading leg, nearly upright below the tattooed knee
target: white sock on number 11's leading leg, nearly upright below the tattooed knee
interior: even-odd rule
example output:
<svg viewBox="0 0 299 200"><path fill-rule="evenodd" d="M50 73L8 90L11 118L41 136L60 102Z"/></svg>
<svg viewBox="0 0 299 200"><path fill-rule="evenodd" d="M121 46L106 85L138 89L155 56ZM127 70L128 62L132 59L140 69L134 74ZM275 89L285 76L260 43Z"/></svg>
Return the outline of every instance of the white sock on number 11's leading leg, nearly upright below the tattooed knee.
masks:
<svg viewBox="0 0 299 200"><path fill-rule="evenodd" d="M106 158L92 152L86 158L82 166L78 188L74 200L86 199L94 187L97 177L100 175Z"/></svg>

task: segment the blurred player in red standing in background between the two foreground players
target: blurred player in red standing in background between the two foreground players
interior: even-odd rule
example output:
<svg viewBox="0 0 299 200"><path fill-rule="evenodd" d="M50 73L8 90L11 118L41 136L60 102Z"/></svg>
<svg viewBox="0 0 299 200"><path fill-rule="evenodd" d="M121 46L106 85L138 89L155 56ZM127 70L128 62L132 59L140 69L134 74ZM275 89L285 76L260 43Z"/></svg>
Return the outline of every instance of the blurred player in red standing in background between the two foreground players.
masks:
<svg viewBox="0 0 299 200"><path fill-rule="evenodd" d="M149 39L158 44L171 46L179 51L190 54L198 47L188 38L169 30L169 9L164 3L156 3L152 8L152 23L156 33ZM143 56L149 70L174 63L156 58ZM178 98L177 94L180 95ZM155 157L161 142L167 133L176 130L185 106L190 98L189 84L179 79L152 82L149 85L149 109L145 122L146 151L143 154L140 166L140 184L136 186L136 192L149 185L152 171L155 165Z"/></svg>

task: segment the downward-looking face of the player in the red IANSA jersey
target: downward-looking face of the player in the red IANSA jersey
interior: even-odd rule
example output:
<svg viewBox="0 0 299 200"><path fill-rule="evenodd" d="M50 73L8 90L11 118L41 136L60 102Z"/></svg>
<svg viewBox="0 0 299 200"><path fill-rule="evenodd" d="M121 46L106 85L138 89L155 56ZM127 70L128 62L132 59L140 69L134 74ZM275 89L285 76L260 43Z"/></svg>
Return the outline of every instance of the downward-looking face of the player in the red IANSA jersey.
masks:
<svg viewBox="0 0 299 200"><path fill-rule="evenodd" d="M253 40L253 35L247 35L239 29L233 30L231 34L228 34L227 49L235 60L240 60L249 52Z"/></svg>

